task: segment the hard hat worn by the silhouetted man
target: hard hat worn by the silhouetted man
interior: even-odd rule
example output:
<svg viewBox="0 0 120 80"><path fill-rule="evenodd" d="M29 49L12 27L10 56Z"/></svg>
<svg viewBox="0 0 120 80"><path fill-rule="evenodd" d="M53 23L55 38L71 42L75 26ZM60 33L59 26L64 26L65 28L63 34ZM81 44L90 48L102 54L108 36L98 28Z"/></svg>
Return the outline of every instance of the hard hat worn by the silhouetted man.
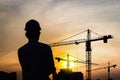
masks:
<svg viewBox="0 0 120 80"><path fill-rule="evenodd" d="M31 19L25 24L25 31L29 32L38 32L41 30L40 24L38 21Z"/></svg>

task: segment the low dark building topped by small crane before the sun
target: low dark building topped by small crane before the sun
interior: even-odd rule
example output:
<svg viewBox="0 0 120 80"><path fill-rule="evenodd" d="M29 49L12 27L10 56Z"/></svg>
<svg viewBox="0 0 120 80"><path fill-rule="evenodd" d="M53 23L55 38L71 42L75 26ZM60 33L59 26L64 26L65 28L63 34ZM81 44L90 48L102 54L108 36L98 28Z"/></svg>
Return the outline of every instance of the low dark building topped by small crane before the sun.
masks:
<svg viewBox="0 0 120 80"><path fill-rule="evenodd" d="M63 59L63 58L60 58L60 57L55 57L55 59L58 62L66 61L67 62L66 67L67 68L60 69L60 72L53 76L53 80L84 80L83 79L83 73L73 72L72 69L70 69L70 62L75 62L76 63L76 60L70 60L69 56L70 55L67 54L67 59ZM77 60L77 62L79 62L79 61Z"/></svg>

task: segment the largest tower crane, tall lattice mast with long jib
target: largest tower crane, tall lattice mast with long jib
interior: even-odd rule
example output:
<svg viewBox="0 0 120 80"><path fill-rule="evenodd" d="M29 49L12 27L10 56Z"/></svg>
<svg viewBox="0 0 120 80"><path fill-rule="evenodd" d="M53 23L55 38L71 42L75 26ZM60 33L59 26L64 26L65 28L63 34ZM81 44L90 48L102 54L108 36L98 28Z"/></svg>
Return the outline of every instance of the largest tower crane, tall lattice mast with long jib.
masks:
<svg viewBox="0 0 120 80"><path fill-rule="evenodd" d="M63 46L63 45L70 45L70 44L86 44L86 80L91 80L91 42L103 40L104 43L108 42L108 39L113 38L111 35L105 35L97 38L91 38L91 30L87 30L87 39L78 39L78 40L71 40L65 42L56 42L50 44L51 47Z"/></svg>

